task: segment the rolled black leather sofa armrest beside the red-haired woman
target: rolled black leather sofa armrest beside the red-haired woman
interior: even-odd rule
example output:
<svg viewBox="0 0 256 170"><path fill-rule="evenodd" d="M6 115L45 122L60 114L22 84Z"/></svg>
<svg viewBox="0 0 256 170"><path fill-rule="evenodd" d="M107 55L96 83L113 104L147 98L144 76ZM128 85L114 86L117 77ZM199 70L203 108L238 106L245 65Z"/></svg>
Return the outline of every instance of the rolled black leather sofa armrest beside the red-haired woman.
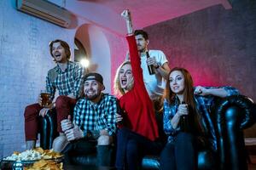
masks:
<svg viewBox="0 0 256 170"><path fill-rule="evenodd" d="M221 99L215 106L220 169L247 169L242 129L255 122L254 107L252 100L242 95Z"/></svg>

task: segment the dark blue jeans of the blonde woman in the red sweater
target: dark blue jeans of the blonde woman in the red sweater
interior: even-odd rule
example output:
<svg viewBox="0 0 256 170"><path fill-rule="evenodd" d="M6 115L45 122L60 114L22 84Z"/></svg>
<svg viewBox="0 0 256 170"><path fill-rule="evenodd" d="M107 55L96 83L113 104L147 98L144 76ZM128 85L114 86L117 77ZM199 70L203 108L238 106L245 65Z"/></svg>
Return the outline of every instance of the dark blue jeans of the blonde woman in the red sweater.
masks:
<svg viewBox="0 0 256 170"><path fill-rule="evenodd" d="M160 154L164 144L151 141L125 127L117 133L117 153L115 167L118 170L136 170L141 167L145 155Z"/></svg>

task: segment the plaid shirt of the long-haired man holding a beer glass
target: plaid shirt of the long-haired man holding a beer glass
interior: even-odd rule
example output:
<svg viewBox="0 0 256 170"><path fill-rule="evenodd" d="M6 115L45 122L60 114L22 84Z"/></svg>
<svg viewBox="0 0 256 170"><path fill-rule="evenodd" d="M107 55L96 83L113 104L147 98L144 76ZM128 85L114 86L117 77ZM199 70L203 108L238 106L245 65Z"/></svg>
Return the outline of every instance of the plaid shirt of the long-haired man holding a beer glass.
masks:
<svg viewBox="0 0 256 170"><path fill-rule="evenodd" d="M84 76L84 69L78 63L67 62L67 69L62 72L59 65L48 71L46 77L46 91L51 99L55 97L55 90L58 89L60 95L73 94L79 97L79 91Z"/></svg>

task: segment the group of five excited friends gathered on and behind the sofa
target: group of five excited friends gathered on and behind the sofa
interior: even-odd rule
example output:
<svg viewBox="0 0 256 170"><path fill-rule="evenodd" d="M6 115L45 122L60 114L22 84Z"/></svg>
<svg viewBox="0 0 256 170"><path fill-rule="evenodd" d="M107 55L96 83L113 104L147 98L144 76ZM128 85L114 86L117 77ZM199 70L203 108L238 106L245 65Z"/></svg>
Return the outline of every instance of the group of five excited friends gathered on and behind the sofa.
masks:
<svg viewBox="0 0 256 170"><path fill-rule="evenodd" d="M102 93L102 75L84 74L81 65L69 60L67 42L50 42L49 53L56 66L48 71L46 91L50 99L56 89L59 96L48 107L42 106L40 96L37 104L26 106L26 149L35 147L39 117L54 109L60 135L53 149L64 154L65 163L72 163L73 154L96 152L98 165L110 166L116 148L119 170L138 169L143 156L152 154L160 155L163 170L196 169L199 145L217 150L210 119L214 99L239 92L232 87L194 87L189 71L171 70L162 51L148 50L148 33L133 31L128 9L121 15L126 21L129 53L114 78L117 97ZM148 65L153 65L154 75L149 75ZM189 119L189 132L180 126L183 116Z"/></svg>

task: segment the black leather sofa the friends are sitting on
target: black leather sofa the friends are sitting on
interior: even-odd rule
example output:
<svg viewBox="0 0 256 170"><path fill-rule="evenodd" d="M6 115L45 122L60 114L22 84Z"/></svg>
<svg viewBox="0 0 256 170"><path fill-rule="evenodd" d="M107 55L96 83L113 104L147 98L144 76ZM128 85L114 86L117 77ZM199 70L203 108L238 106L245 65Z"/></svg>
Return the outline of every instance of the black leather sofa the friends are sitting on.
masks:
<svg viewBox="0 0 256 170"><path fill-rule="evenodd" d="M256 105L241 95L219 99L212 107L212 122L217 133L218 152L200 150L198 169L247 170L247 151L243 129L251 127L256 120ZM57 135L54 111L43 118L41 147L49 149ZM73 156L73 163L96 165L96 155ZM159 156L145 156L143 169L159 169Z"/></svg>

